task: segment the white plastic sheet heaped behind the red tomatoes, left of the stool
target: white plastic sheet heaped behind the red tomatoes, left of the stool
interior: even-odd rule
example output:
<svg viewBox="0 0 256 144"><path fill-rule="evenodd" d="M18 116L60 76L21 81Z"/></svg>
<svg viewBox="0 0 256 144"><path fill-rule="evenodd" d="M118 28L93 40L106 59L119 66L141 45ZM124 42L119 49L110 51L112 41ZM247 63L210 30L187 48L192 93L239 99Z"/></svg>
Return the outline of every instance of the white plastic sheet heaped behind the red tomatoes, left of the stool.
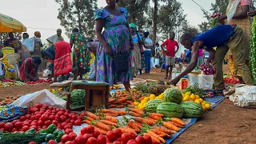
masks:
<svg viewBox="0 0 256 144"><path fill-rule="evenodd" d="M12 105L30 107L37 103L66 109L66 101L56 97L49 90L41 90L32 94L26 94L15 100Z"/></svg>

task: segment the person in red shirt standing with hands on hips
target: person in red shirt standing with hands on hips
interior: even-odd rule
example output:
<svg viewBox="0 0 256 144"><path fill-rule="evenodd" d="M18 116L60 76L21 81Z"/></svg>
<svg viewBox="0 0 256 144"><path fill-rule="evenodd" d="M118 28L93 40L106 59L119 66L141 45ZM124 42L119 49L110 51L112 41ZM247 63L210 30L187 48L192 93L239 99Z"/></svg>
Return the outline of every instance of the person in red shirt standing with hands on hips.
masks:
<svg viewBox="0 0 256 144"><path fill-rule="evenodd" d="M178 52L179 46L178 42L174 40L175 38L175 33L170 32L170 38L166 40L166 42L163 42L161 45L162 51L163 46L166 46L166 78L165 79L170 79L173 67L175 65L175 54ZM177 50L175 50L175 47L177 47ZM170 71L170 75L168 77L168 73Z"/></svg>

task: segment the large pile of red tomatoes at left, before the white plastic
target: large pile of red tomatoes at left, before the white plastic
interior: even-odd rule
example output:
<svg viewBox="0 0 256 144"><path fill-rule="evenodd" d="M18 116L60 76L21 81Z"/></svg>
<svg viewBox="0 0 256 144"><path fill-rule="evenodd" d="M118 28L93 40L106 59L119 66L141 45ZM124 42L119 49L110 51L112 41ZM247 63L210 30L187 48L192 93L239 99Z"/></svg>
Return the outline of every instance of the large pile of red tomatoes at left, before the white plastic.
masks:
<svg viewBox="0 0 256 144"><path fill-rule="evenodd" d="M85 114L84 114L85 115ZM1 122L0 131L18 132L34 128L34 130L46 129L50 124L57 126L59 130L72 129L81 126L83 114L76 115L65 109L36 104L31 106L26 115L13 122Z"/></svg>

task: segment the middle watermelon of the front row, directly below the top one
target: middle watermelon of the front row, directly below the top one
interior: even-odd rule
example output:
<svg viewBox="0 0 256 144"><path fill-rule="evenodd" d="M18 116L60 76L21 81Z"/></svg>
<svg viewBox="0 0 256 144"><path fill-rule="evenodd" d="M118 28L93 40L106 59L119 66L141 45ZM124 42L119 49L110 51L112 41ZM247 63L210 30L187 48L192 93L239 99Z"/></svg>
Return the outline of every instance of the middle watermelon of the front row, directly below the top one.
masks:
<svg viewBox="0 0 256 144"><path fill-rule="evenodd" d="M164 114L168 118L182 118L183 109L174 102L162 102L158 105L158 114Z"/></svg>

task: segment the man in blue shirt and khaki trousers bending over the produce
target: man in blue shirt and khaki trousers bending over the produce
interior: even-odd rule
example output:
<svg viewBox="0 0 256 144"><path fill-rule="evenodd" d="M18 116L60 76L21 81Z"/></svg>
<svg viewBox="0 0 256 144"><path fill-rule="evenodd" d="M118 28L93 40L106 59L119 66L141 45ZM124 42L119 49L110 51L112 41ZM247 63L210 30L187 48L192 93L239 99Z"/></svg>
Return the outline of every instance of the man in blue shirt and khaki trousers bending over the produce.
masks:
<svg viewBox="0 0 256 144"><path fill-rule="evenodd" d="M234 63L241 71L242 79L246 85L254 85L250 69L246 66L246 47L242 46L242 33L242 29L236 25L220 25L194 37L188 33L183 34L181 43L186 49L192 50L193 55L190 65L178 77L174 78L171 84L176 85L183 76L194 70L198 62L198 49L206 48L210 53L205 62L206 67L209 67L210 62L212 62L217 69L214 80L216 93L222 93L224 90L222 62L229 49L234 54ZM213 49L215 46L217 46L216 51Z"/></svg>

